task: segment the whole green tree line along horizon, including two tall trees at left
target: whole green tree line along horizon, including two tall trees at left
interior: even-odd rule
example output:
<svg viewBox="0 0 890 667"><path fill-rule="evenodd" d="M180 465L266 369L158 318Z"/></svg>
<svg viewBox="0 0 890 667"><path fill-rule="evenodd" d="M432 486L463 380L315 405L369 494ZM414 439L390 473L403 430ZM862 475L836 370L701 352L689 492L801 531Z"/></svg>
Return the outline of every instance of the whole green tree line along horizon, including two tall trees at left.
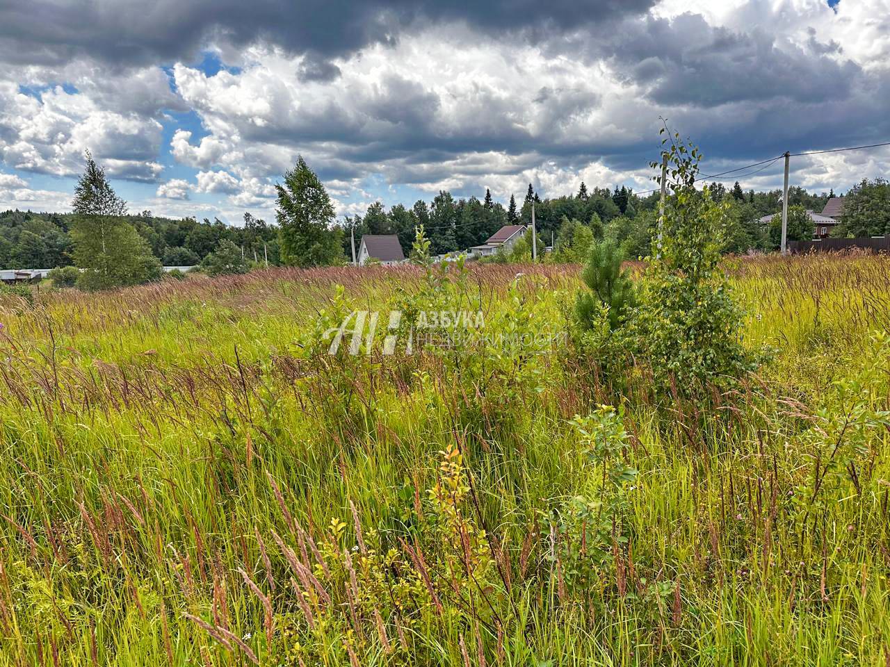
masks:
<svg viewBox="0 0 890 667"><path fill-rule="evenodd" d="M276 221L245 213L240 227L218 219L174 220L150 211L128 213L104 170L89 153L77 181L72 213L0 213L0 265L9 268L77 266L85 288L132 285L158 277L160 266L201 266L211 273L244 272L254 265L312 267L336 265L352 258L365 234L394 234L406 256L423 227L433 255L464 251L485 243L504 225L531 221L534 206L538 239L554 246L560 261L585 261L589 240L608 239L626 256L643 256L651 248L659 193L637 195L626 187L592 187L581 182L572 195L547 197L529 184L518 203L495 202L490 190L481 198L454 197L442 190L427 203L397 204L388 210L375 202L364 215L336 219L324 184L299 157L277 186ZM778 248L781 221L760 218L781 210L781 190L755 192L713 182L709 196L727 210L724 251L769 252ZM814 194L789 189L789 240L813 237L807 210L820 212L833 192ZM844 215L835 233L843 237L890 233L890 184L862 181L847 193ZM517 257L530 249L530 239ZM500 261L506 258L500 257ZM73 274L69 274L73 276Z"/></svg>

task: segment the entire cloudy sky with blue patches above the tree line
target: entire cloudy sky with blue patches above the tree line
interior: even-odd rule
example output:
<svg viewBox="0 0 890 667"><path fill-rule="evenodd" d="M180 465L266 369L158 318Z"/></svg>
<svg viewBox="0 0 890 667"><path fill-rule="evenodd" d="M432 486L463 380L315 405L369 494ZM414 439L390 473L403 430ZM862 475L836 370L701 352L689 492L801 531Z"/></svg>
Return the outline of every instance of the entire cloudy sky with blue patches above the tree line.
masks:
<svg viewBox="0 0 890 667"><path fill-rule="evenodd" d="M87 149L131 213L231 224L298 155L339 215L642 191L661 118L713 174L890 141L888 108L890 0L0 0L0 210L68 211ZM887 176L890 147L791 159Z"/></svg>

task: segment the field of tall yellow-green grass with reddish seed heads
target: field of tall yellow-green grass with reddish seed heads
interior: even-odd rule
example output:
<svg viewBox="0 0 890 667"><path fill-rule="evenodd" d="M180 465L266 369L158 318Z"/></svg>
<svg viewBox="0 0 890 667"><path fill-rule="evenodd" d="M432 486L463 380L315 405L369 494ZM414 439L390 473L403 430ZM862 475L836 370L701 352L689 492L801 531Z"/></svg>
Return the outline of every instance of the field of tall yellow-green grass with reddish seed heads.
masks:
<svg viewBox="0 0 890 667"><path fill-rule="evenodd" d="M4 298L0 665L890 663L890 261L724 268L707 401L602 381L576 266Z"/></svg>

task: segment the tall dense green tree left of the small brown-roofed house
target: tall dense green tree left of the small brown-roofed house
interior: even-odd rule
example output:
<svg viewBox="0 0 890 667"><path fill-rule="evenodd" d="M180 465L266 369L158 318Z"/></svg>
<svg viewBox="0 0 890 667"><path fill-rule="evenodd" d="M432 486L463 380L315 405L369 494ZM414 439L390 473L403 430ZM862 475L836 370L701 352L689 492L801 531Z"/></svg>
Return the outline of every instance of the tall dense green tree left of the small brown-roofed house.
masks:
<svg viewBox="0 0 890 667"><path fill-rule="evenodd" d="M276 184L281 259L290 266L312 267L344 261L342 230L331 229L334 205L303 156Z"/></svg>

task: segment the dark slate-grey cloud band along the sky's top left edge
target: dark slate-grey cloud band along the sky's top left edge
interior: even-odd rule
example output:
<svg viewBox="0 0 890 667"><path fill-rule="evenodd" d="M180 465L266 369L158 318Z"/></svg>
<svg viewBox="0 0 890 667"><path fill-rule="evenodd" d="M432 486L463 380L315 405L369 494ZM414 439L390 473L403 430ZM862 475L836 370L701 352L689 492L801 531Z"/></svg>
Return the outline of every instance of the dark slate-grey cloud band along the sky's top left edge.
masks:
<svg viewBox="0 0 890 667"><path fill-rule="evenodd" d="M59 65L90 57L115 65L192 60L208 40L235 47L275 44L312 53L304 76L368 44L392 44L406 28L465 22L486 33L530 40L647 11L653 0L4 0L0 60Z"/></svg>

